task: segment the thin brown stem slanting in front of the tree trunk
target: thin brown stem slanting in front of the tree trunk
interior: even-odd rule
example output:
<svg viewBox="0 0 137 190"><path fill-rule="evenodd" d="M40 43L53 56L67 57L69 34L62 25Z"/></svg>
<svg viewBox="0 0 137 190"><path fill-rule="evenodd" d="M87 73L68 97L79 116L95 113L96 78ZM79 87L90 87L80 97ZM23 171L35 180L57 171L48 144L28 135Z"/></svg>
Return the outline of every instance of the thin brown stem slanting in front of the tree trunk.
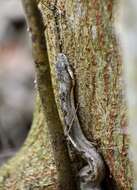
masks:
<svg viewBox="0 0 137 190"><path fill-rule="evenodd" d="M36 0L22 0L22 2L26 12L28 25L32 33L33 57L36 66L38 90L50 132L58 171L59 189L76 190L63 128L52 88L42 16L37 7Z"/></svg>

